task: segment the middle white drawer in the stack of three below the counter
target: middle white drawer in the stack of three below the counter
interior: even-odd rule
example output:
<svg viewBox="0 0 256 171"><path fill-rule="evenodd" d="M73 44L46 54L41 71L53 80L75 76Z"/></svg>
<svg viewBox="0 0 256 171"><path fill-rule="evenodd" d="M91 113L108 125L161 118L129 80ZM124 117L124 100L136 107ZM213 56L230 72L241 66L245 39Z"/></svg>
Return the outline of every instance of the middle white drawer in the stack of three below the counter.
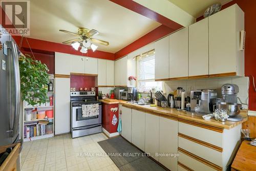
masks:
<svg viewBox="0 0 256 171"><path fill-rule="evenodd" d="M178 142L178 146L182 149L185 149L185 151L192 153L200 158L203 158L218 166L222 166L221 152L182 137L178 138Z"/></svg>

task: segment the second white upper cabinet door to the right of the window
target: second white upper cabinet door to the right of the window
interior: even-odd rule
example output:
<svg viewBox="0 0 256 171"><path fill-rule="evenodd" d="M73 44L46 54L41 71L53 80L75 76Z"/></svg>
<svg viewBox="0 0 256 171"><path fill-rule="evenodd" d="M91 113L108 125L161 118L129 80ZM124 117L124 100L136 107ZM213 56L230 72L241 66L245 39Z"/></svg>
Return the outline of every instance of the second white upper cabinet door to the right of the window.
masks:
<svg viewBox="0 0 256 171"><path fill-rule="evenodd" d="M169 36L169 77L188 76L188 28Z"/></svg>

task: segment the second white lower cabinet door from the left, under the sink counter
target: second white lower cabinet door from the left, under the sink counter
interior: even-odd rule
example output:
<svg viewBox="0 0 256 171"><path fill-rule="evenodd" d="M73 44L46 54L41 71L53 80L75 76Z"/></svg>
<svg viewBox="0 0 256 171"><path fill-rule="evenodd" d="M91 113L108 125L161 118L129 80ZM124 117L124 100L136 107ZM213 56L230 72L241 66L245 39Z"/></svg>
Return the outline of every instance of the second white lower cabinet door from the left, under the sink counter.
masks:
<svg viewBox="0 0 256 171"><path fill-rule="evenodd" d="M132 143L145 151L145 113L132 109Z"/></svg>

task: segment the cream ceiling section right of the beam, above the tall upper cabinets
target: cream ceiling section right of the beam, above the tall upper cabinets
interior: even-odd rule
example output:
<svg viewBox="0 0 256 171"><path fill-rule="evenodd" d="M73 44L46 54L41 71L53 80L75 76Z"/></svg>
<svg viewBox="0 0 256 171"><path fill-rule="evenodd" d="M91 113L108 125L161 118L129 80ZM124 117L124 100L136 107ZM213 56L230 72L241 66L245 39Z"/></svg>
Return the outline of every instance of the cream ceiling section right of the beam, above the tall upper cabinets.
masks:
<svg viewBox="0 0 256 171"><path fill-rule="evenodd" d="M188 14L198 18L204 15L204 11L212 4L226 4L231 0L168 0L179 8L183 9Z"/></svg>

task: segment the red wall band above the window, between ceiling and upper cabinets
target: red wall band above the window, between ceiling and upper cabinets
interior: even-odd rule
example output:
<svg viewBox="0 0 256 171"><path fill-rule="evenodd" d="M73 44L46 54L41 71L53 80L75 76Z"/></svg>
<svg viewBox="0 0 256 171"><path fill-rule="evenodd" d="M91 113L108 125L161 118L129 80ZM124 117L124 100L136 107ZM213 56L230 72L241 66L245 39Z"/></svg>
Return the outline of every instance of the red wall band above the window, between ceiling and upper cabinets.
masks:
<svg viewBox="0 0 256 171"><path fill-rule="evenodd" d="M154 42L161 37L164 37L172 32L174 32L174 29L171 29L169 27L166 27L164 25L159 26L158 28L152 30L151 32L145 34L144 36L140 37L139 39L132 42L132 44L124 47L120 51L115 53L115 59L121 58L147 44L150 44L151 42Z"/></svg>

